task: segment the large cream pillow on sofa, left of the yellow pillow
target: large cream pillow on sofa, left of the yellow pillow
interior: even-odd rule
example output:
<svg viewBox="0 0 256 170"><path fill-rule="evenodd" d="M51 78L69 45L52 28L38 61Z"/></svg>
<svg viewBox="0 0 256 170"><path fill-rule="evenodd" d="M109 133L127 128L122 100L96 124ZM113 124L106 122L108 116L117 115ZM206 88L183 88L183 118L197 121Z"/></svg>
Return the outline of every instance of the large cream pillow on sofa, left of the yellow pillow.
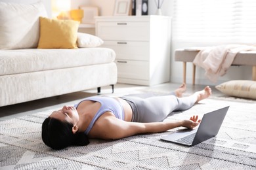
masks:
<svg viewBox="0 0 256 170"><path fill-rule="evenodd" d="M47 16L43 3L0 2L0 49L36 48L39 16Z"/></svg>

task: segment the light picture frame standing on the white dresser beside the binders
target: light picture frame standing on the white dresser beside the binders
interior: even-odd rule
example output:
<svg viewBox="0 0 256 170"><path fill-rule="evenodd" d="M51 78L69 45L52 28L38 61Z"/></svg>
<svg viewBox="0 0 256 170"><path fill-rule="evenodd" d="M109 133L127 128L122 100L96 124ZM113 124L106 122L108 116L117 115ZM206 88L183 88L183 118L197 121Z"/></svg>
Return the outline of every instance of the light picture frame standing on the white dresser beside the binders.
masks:
<svg viewBox="0 0 256 170"><path fill-rule="evenodd" d="M131 12L131 0L116 0L114 16L128 16Z"/></svg>

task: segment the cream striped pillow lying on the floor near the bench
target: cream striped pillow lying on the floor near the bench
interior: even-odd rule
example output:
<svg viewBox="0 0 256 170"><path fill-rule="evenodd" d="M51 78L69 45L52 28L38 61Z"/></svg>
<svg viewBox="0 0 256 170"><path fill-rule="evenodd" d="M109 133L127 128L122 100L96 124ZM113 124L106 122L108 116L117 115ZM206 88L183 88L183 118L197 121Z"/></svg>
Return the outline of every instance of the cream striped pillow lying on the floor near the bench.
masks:
<svg viewBox="0 0 256 170"><path fill-rule="evenodd" d="M256 99L256 81L231 80L216 86L217 90L227 95Z"/></svg>

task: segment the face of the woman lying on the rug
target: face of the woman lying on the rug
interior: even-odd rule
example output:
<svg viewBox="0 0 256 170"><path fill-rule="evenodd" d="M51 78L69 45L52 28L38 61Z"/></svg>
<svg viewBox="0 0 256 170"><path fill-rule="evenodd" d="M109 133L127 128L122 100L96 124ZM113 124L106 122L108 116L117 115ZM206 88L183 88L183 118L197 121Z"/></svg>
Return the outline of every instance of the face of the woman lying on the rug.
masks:
<svg viewBox="0 0 256 170"><path fill-rule="evenodd" d="M66 121L73 125L79 121L79 115L75 107L64 106L62 109L54 111L49 117L56 118L62 122Z"/></svg>

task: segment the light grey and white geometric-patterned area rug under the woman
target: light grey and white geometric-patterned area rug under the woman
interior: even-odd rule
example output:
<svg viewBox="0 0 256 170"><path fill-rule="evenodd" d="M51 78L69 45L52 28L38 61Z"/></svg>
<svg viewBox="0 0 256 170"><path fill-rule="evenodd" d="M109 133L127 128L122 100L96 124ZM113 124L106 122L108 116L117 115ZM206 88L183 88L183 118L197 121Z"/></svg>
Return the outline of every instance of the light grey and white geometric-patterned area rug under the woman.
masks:
<svg viewBox="0 0 256 170"><path fill-rule="evenodd" d="M0 169L256 169L256 102L205 99L167 119L201 117L230 105L217 137L187 147L161 141L173 133L137 135L55 151L41 141L41 123L53 111L0 122ZM58 109L58 108L56 108Z"/></svg>

